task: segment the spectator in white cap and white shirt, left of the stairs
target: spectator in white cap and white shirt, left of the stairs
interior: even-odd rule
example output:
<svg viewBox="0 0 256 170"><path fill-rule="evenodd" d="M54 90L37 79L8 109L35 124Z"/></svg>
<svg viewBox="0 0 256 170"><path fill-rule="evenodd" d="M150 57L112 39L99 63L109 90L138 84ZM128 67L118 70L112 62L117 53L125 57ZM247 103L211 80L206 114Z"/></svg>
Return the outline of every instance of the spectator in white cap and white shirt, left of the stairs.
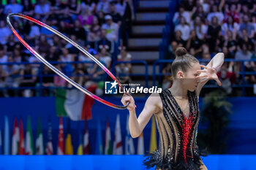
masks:
<svg viewBox="0 0 256 170"><path fill-rule="evenodd" d="M105 16L106 23L102 25L102 29L107 30L107 39L111 42L118 40L118 24L114 23L110 15Z"/></svg>

